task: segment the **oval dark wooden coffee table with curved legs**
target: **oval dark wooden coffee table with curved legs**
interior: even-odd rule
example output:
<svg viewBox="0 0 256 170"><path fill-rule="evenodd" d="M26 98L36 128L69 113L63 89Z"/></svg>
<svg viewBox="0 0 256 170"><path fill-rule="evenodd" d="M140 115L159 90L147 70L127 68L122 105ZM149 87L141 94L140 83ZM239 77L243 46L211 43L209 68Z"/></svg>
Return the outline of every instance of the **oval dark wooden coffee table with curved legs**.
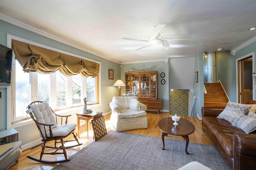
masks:
<svg viewBox="0 0 256 170"><path fill-rule="evenodd" d="M180 121L178 121L178 125L174 125L173 123L174 121L172 120L172 117L166 117L158 122L158 128L160 129L160 131L162 131L162 150L164 150L165 136L182 136L184 139L186 139L186 154L189 154L187 151L189 143L188 135L192 134L195 131L194 125L190 121L182 118L180 118Z"/></svg>

